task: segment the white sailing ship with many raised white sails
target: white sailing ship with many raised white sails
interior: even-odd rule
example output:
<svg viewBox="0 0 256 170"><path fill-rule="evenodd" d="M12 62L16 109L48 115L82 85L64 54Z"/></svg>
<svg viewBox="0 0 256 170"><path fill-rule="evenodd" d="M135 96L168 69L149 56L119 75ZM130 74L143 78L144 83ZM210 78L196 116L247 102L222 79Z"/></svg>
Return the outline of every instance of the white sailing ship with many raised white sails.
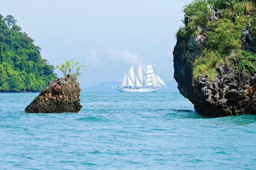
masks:
<svg viewBox="0 0 256 170"><path fill-rule="evenodd" d="M121 86L115 89L121 92L157 92L160 88L166 88L166 84L154 73L152 65L146 69L141 65L134 72L133 66L126 72Z"/></svg>

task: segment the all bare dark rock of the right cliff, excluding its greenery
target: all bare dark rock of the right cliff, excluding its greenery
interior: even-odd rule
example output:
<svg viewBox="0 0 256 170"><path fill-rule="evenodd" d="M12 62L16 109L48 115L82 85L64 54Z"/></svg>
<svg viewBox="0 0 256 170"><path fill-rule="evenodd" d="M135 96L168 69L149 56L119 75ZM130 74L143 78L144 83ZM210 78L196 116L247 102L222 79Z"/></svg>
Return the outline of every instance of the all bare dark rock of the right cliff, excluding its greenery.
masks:
<svg viewBox="0 0 256 170"><path fill-rule="evenodd" d="M209 7L211 8L211 6ZM215 15L216 11L220 10L215 9L214 11ZM188 17L186 20L189 22ZM190 32L189 38L185 41L182 37L178 37L174 47L174 79L178 83L180 93L194 104L197 112L205 116L256 114L256 75L250 81L223 81L216 78L215 82L212 82L208 76L193 80L193 62L197 55L203 54L207 42L204 35L208 31L207 28L200 26L197 29L200 30L199 35L192 36ZM250 34L250 25L244 30L242 37L244 48L255 50L254 37ZM222 63L217 71L219 74L225 74L228 71L225 69L225 64Z"/></svg>

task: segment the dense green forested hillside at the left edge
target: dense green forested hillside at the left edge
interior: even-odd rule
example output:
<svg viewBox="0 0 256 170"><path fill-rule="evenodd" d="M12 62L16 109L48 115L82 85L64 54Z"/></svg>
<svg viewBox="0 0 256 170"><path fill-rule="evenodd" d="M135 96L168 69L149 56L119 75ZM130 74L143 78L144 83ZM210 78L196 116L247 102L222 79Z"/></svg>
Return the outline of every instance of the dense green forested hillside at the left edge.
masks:
<svg viewBox="0 0 256 170"><path fill-rule="evenodd" d="M0 14L0 92L42 91L57 78L54 66L41 57L41 48L16 21Z"/></svg>

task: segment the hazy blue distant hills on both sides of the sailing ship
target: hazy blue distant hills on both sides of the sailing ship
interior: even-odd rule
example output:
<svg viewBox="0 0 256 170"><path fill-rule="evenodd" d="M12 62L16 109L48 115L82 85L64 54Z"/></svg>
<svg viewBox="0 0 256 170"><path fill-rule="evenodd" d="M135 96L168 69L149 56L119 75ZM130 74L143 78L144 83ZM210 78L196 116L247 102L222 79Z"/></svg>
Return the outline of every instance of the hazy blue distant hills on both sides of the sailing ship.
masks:
<svg viewBox="0 0 256 170"><path fill-rule="evenodd" d="M118 92L112 87L122 84L118 81L104 81L91 87L83 88L84 92ZM179 92L175 80L171 80L165 83L168 87L160 89L159 92Z"/></svg>

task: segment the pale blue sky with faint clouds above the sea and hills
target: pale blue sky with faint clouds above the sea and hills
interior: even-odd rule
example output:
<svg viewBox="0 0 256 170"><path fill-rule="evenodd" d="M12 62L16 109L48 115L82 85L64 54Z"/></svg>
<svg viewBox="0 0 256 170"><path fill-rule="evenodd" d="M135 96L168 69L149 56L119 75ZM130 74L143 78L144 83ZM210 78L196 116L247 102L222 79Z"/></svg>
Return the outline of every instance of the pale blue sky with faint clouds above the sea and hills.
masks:
<svg viewBox="0 0 256 170"><path fill-rule="evenodd" d="M140 59L144 66L153 65L164 82L173 80L175 33L183 27L182 9L190 2L1 0L0 14L17 19L49 64L73 58L86 65L79 78L84 88L103 81L121 82L124 67L137 69Z"/></svg>

